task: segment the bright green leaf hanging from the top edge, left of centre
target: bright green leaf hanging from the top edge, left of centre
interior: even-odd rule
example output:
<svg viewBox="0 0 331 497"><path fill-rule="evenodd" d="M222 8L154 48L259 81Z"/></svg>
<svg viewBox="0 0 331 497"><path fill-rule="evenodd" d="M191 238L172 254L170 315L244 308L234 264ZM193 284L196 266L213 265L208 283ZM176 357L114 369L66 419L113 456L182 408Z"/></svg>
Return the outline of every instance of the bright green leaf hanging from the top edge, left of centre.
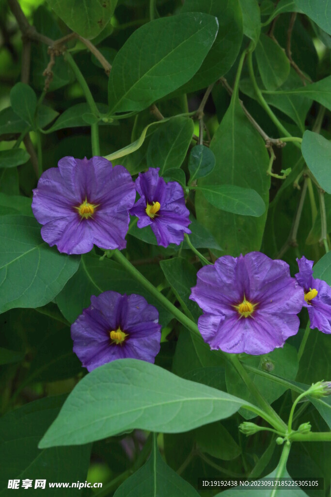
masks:
<svg viewBox="0 0 331 497"><path fill-rule="evenodd" d="M55 13L83 38L95 38L106 26L117 0L47 0Z"/></svg>

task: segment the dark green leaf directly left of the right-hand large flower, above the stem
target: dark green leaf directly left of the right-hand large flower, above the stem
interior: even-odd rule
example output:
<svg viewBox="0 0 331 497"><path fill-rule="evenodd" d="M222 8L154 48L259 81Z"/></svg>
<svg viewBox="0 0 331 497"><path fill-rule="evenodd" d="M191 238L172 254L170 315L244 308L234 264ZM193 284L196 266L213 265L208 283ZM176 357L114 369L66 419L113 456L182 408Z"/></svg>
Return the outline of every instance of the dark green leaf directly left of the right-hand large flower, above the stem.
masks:
<svg viewBox="0 0 331 497"><path fill-rule="evenodd" d="M189 299L191 287L197 284L196 269L183 257L160 260L160 266L185 314L196 321L201 313L198 305Z"/></svg>

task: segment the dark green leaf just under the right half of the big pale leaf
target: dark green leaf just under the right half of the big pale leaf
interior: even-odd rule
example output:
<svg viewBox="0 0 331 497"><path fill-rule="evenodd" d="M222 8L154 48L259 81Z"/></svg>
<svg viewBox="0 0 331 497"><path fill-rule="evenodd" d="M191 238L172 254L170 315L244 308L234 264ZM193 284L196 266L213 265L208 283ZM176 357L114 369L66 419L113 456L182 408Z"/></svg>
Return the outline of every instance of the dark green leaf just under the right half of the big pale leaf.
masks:
<svg viewBox="0 0 331 497"><path fill-rule="evenodd" d="M241 453L239 445L219 421L197 428L194 438L202 452L223 461L231 461Z"/></svg>

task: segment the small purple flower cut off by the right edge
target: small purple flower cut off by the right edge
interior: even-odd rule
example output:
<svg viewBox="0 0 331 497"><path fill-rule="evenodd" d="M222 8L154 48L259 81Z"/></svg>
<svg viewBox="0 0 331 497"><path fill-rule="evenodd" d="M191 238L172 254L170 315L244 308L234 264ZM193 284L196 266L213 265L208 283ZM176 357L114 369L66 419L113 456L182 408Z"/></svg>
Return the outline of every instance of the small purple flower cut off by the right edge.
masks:
<svg viewBox="0 0 331 497"><path fill-rule="evenodd" d="M317 328L323 333L331 333L331 288L326 281L313 278L313 260L296 259L299 272L295 277L304 289L304 307L307 307L310 328Z"/></svg>

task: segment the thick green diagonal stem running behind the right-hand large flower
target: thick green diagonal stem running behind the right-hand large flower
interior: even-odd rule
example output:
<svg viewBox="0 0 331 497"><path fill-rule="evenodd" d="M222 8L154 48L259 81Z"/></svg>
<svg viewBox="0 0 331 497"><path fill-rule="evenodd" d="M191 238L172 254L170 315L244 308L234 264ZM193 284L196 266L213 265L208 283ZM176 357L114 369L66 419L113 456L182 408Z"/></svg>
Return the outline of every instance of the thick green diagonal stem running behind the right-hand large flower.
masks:
<svg viewBox="0 0 331 497"><path fill-rule="evenodd" d="M120 250L116 249L112 252L112 257L114 260L119 262L127 271L129 274L133 276L134 279L139 281L139 283L149 292L151 293L159 302L160 304L167 310L169 311L180 323L182 323L185 328L187 328L189 331L191 331L194 334L197 334L199 336L199 328L198 326L190 319L188 318L184 313L182 313L177 307L175 307L169 300L162 294L160 293L154 285L152 285L133 265L132 263L123 255ZM235 355L231 354L224 354L224 357L231 361L233 364L234 368L238 371L238 374L246 384L247 388L251 391L252 395L260 405L261 409L263 412L260 412L260 409L255 408L255 412L264 417L264 419L271 424L277 431L285 432L286 431L286 424L284 421L278 416L277 413L272 409L272 407L266 402L264 397L261 395L259 390L256 388L254 385L253 381L249 377L249 375L246 373L244 367L240 363L239 359ZM253 409L253 408L252 408Z"/></svg>

